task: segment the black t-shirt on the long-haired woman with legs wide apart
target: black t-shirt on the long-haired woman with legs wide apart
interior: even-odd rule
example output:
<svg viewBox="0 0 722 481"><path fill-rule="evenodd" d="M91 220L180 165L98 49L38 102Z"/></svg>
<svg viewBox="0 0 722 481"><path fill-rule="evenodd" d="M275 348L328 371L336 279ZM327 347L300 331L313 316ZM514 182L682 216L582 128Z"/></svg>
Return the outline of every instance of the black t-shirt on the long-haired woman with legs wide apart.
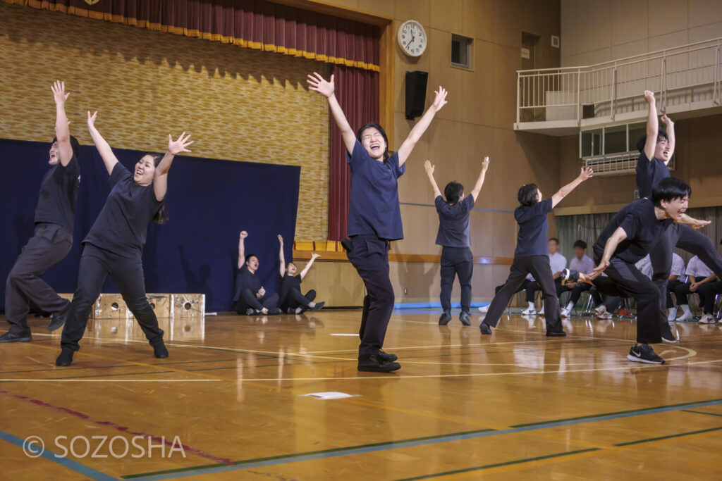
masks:
<svg viewBox="0 0 722 481"><path fill-rule="evenodd" d="M155 198L153 185L138 185L128 169L118 162L110 173L110 194L83 243L123 257L140 257L148 224L162 202Z"/></svg>

